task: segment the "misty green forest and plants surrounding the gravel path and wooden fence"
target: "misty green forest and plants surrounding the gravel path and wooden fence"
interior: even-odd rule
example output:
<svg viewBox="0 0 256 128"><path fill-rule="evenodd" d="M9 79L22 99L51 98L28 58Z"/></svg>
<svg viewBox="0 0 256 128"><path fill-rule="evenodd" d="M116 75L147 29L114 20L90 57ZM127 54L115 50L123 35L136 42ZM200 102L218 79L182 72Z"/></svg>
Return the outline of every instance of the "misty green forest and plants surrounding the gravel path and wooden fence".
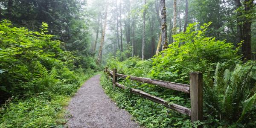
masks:
<svg viewBox="0 0 256 128"><path fill-rule="evenodd" d="M64 128L81 84L118 73L189 84L204 75L204 121L126 90L105 93L146 128L256 127L255 0L0 0L0 127ZM119 79L190 108L185 93Z"/></svg>

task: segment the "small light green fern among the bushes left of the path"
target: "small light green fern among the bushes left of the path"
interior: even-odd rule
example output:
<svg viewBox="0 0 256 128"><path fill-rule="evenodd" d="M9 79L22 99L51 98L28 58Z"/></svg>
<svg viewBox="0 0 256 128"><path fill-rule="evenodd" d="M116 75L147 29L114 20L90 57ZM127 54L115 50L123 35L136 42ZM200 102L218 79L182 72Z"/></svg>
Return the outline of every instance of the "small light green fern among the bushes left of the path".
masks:
<svg viewBox="0 0 256 128"><path fill-rule="evenodd" d="M34 73L33 75L36 78L43 78L48 75L46 67L44 65L40 64L40 62L37 62L34 67Z"/></svg>

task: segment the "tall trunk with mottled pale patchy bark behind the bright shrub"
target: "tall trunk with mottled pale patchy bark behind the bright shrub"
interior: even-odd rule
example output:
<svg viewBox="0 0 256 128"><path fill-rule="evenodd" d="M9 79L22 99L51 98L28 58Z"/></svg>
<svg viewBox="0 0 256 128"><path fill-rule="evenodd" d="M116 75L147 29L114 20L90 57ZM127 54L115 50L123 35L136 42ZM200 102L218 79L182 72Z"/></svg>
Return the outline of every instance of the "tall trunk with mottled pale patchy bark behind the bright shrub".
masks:
<svg viewBox="0 0 256 128"><path fill-rule="evenodd" d="M166 24L166 6L165 6L165 0L160 0L160 6L161 6L161 44L162 49L165 50L168 47L167 42L167 24Z"/></svg>

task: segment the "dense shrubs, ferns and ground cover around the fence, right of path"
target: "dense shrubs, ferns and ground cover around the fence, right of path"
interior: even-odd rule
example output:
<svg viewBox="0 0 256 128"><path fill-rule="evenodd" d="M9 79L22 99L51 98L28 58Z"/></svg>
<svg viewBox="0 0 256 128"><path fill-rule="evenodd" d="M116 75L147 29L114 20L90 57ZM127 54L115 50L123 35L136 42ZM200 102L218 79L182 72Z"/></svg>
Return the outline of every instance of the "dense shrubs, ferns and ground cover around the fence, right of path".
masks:
<svg viewBox="0 0 256 128"><path fill-rule="evenodd" d="M201 71L204 75L204 122L201 123L207 128L253 127L256 125L255 61L242 64L241 55L233 44L205 36L207 26L209 24L199 27L195 23L189 24L186 32L174 35L174 43L152 59L141 61L135 57L122 62L109 59L107 66L126 75L184 84L189 84L190 72ZM102 79L106 93L141 125L149 128L192 127L188 116L130 94L128 90L113 89L111 81L104 82L106 76ZM190 108L189 96L185 93L127 79L119 79L119 82Z"/></svg>

